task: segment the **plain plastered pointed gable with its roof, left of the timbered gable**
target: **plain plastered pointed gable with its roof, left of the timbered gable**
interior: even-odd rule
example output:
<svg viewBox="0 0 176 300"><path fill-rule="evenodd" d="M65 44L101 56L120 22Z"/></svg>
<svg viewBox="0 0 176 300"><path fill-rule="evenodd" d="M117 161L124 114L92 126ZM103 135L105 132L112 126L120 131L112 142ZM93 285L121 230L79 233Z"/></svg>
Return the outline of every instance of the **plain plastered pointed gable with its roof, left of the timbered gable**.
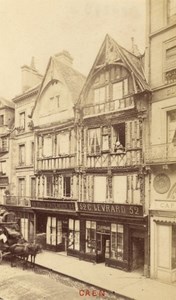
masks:
<svg viewBox="0 0 176 300"><path fill-rule="evenodd" d="M68 55L64 51L62 54L62 58ZM85 77L71 63L59 55L51 57L32 112L34 125L73 118L73 107L84 82Z"/></svg>

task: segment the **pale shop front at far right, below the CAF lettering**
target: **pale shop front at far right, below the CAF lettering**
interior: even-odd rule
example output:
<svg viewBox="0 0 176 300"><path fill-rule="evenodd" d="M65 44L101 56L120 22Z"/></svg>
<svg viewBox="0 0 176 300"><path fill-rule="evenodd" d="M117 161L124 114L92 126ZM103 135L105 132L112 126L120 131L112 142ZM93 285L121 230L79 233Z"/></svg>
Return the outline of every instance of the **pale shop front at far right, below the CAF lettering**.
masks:
<svg viewBox="0 0 176 300"><path fill-rule="evenodd" d="M167 207L176 205L165 202ZM163 205L163 203L162 203ZM174 211L151 210L151 278L176 282L176 217Z"/></svg>

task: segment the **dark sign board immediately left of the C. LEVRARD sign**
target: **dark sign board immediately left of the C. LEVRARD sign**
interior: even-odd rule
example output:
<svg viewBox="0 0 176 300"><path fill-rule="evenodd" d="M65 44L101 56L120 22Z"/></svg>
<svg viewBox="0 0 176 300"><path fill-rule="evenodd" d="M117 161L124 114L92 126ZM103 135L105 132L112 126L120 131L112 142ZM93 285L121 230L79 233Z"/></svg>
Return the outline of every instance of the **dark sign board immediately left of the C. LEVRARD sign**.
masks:
<svg viewBox="0 0 176 300"><path fill-rule="evenodd" d="M75 202L31 200L31 207L75 211Z"/></svg>

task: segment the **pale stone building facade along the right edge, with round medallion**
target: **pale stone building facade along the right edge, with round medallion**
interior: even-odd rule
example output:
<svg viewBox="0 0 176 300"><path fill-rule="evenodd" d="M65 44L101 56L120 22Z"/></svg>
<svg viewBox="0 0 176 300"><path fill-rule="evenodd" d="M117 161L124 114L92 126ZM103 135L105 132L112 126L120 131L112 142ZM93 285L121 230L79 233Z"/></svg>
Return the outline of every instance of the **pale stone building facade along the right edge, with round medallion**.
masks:
<svg viewBox="0 0 176 300"><path fill-rule="evenodd" d="M176 280L176 2L147 1L151 277Z"/></svg>

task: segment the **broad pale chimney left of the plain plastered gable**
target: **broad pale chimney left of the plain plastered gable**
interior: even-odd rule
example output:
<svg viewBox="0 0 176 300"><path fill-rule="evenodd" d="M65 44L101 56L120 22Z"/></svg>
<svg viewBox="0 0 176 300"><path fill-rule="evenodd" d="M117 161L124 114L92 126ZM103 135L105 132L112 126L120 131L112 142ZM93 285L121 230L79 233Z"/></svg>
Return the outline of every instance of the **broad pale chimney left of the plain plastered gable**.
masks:
<svg viewBox="0 0 176 300"><path fill-rule="evenodd" d="M30 66L24 65L21 67L21 75L23 93L41 82L43 76L35 68L34 57L32 57Z"/></svg>

